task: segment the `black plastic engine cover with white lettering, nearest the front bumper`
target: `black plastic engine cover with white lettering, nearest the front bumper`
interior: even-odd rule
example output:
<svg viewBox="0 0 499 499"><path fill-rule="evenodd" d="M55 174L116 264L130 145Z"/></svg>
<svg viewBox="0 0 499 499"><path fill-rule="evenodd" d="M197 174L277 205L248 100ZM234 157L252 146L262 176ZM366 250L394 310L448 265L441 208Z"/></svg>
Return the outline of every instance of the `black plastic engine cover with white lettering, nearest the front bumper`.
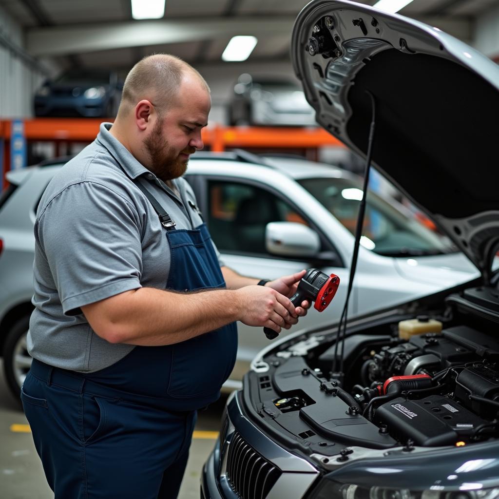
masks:
<svg viewBox="0 0 499 499"><path fill-rule="evenodd" d="M387 425L389 434L400 442L412 439L417 445L429 447L466 441L475 428L487 423L440 395L421 400L396 398L376 410L375 420Z"/></svg>

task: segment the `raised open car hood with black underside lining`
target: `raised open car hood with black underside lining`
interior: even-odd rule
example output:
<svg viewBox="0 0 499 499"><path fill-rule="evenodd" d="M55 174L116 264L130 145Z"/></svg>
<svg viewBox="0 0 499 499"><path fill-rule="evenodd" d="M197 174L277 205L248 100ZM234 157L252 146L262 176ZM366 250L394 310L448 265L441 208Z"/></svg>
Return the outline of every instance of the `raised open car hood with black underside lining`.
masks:
<svg viewBox="0 0 499 499"><path fill-rule="evenodd" d="M499 66L436 27L351 1L312 1L292 36L317 122L432 217L488 281L499 246Z"/></svg>

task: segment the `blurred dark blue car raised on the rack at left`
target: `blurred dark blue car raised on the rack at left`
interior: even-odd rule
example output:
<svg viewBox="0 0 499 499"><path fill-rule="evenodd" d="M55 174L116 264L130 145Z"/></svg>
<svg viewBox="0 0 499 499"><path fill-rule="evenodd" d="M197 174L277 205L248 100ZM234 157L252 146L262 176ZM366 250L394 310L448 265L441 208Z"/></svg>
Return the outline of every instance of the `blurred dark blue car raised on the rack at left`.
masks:
<svg viewBox="0 0 499 499"><path fill-rule="evenodd" d="M34 96L35 116L116 116L123 83L106 69L70 69L47 80Z"/></svg>

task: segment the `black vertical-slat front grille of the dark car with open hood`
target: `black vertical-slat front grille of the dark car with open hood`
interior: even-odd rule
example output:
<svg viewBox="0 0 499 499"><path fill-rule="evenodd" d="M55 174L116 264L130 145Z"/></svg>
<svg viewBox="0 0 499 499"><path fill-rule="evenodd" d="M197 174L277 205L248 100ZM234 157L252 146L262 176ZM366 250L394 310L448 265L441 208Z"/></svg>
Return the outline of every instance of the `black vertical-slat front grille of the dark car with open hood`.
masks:
<svg viewBox="0 0 499 499"><path fill-rule="evenodd" d="M227 456L227 479L241 499L264 499L280 477L279 469L261 457L239 433Z"/></svg>

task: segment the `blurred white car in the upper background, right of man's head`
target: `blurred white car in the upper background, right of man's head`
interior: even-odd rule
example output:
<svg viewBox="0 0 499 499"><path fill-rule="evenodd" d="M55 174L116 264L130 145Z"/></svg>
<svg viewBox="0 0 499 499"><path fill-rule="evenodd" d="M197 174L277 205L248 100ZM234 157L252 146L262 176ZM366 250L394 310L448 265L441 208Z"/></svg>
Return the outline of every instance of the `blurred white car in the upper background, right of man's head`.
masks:
<svg viewBox="0 0 499 499"><path fill-rule="evenodd" d="M293 81L242 74L229 104L229 124L316 126L315 112Z"/></svg>

